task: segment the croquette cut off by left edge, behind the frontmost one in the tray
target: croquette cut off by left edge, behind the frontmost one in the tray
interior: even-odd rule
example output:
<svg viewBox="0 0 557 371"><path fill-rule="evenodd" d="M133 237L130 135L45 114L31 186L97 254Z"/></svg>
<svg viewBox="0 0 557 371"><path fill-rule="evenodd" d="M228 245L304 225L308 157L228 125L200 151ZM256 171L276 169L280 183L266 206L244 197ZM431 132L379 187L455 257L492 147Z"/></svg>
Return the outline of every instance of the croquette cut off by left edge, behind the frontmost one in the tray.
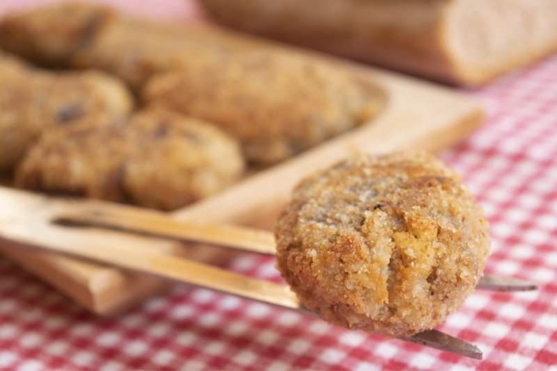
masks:
<svg viewBox="0 0 557 371"><path fill-rule="evenodd" d="M0 53L0 171L13 170L42 133L109 124L131 109L130 93L110 76L47 72Z"/></svg>

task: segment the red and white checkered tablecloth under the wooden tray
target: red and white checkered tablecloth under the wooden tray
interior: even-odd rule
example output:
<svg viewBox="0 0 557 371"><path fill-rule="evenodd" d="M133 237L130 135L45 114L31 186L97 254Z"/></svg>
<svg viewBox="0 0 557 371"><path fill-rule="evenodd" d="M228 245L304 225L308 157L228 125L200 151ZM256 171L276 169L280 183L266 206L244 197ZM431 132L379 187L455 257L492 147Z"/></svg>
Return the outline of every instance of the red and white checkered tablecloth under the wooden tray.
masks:
<svg viewBox="0 0 557 371"><path fill-rule="evenodd" d="M48 2L3 0L0 11ZM114 3L151 15L196 14L186 0ZM487 108L487 124L441 156L464 175L491 222L487 272L541 286L515 294L478 290L439 328L478 345L484 361L185 285L116 318L95 318L0 257L0 368L557 367L557 56L469 94ZM272 258L246 255L231 268L279 280Z"/></svg>

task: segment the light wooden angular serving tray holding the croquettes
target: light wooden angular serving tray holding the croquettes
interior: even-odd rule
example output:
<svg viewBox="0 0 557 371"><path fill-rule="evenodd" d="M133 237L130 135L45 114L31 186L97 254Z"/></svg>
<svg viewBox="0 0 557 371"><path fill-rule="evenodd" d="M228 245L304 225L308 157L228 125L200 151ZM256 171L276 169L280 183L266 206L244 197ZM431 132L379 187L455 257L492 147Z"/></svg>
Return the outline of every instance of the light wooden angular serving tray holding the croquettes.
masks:
<svg viewBox="0 0 557 371"><path fill-rule="evenodd" d="M355 152L377 154L398 149L421 148L436 151L465 138L482 122L483 112L471 99L432 83L384 72L295 47L280 46L235 33L214 31L203 25L184 25L195 33L226 38L244 46L281 48L322 58L352 70L363 82L379 87L386 106L372 122L340 135L267 170L248 176L236 186L173 213L181 220L224 222L271 228L292 186L308 173L327 167ZM104 233L84 229L83 243ZM140 238L124 233L113 237L125 246L148 244L199 261L222 263L233 254L225 249ZM128 308L168 283L113 267L79 261L56 254L28 252L0 245L0 250L27 270L37 274L94 313L107 315ZM216 258L217 257L217 258Z"/></svg>

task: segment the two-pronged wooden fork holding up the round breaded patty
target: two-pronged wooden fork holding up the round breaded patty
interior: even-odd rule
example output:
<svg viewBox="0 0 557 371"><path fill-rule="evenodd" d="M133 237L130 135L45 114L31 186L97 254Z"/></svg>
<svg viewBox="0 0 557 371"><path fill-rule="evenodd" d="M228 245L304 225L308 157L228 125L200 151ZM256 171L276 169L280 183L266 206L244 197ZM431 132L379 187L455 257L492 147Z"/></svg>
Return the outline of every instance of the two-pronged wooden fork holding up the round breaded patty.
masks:
<svg viewBox="0 0 557 371"><path fill-rule="evenodd" d="M82 227L87 227L86 229ZM93 229L93 230L92 230ZM118 243L117 233L134 240ZM137 244L138 236L203 242L246 252L272 255L272 233L240 226L180 222L164 213L143 208L84 199L62 199L0 187L0 243L42 249L122 267L157 277L226 292L267 304L302 309L288 286L246 277L204 263ZM130 236L131 237L131 236ZM148 241L147 241L148 242ZM535 283L486 275L477 288L535 290ZM401 338L446 352L481 359L478 347L437 330Z"/></svg>

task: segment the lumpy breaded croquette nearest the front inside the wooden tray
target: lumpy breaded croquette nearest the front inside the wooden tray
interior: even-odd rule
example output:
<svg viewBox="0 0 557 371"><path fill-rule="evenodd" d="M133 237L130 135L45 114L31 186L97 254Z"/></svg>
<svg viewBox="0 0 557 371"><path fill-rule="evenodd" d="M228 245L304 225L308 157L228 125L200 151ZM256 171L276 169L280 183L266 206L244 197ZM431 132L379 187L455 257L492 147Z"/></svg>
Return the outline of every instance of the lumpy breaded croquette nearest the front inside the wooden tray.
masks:
<svg viewBox="0 0 557 371"><path fill-rule="evenodd" d="M63 128L29 151L16 185L171 210L236 181L244 163L219 129L165 110Z"/></svg>

